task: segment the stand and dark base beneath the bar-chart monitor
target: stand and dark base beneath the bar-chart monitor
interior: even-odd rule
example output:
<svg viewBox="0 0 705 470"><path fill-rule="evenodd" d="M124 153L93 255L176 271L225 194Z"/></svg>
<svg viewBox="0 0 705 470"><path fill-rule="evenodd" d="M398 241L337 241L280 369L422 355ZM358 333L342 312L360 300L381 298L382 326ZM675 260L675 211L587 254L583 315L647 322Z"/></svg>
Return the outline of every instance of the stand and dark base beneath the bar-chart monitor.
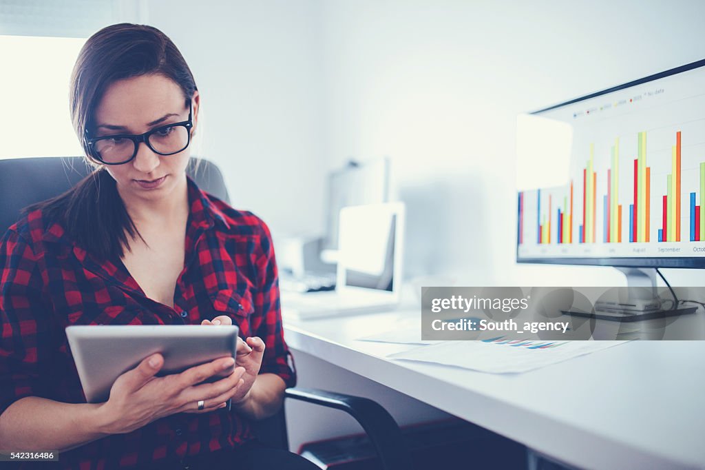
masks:
<svg viewBox="0 0 705 470"><path fill-rule="evenodd" d="M666 304L670 308L661 308L661 300L656 289L656 269L640 267L615 267L615 269L623 272L627 278L629 299L620 303L597 303L594 311L590 313L575 311L564 313L601 320L634 322L685 315L697 311L697 307L678 308L670 303Z"/></svg>

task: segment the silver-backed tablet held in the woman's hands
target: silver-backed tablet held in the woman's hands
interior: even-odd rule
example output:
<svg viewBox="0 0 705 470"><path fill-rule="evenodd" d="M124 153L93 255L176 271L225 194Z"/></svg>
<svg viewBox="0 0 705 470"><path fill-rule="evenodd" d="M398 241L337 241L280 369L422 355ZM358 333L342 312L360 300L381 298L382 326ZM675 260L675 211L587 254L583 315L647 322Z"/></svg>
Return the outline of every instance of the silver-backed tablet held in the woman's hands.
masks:
<svg viewBox="0 0 705 470"><path fill-rule="evenodd" d="M238 346L235 325L85 325L66 327L66 336L88 403L105 402L118 376L154 353L164 356L162 376L234 358Z"/></svg>

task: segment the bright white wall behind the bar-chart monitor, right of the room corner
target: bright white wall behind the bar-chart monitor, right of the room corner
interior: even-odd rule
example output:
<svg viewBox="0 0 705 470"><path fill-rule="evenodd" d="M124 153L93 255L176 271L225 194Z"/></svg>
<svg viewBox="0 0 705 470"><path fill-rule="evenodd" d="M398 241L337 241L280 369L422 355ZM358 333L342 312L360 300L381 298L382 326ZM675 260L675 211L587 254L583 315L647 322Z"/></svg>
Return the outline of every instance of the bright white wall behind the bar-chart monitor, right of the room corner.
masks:
<svg viewBox="0 0 705 470"><path fill-rule="evenodd" d="M321 2L326 155L389 155L407 274L458 284L605 285L594 267L517 267L515 118L703 59L701 1ZM705 274L666 270L676 284Z"/></svg>

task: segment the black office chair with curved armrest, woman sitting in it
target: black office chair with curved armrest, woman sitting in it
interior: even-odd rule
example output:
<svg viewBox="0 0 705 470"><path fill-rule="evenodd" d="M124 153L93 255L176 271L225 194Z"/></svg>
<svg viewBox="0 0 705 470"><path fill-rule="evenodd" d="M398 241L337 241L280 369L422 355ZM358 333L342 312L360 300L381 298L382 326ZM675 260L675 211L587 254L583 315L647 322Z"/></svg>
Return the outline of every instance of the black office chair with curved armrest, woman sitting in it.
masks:
<svg viewBox="0 0 705 470"><path fill-rule="evenodd" d="M198 163L197 171L193 171ZM20 217L27 205L59 195L90 173L82 157L37 157L0 160L0 234ZM192 158L188 174L204 191L230 203L223 174L206 159ZM370 399L350 395L290 388L286 397L339 409L362 425L379 455L383 469L412 469L407 444L396 421L382 406ZM255 423L255 434L266 445L288 450L286 418L278 414Z"/></svg>

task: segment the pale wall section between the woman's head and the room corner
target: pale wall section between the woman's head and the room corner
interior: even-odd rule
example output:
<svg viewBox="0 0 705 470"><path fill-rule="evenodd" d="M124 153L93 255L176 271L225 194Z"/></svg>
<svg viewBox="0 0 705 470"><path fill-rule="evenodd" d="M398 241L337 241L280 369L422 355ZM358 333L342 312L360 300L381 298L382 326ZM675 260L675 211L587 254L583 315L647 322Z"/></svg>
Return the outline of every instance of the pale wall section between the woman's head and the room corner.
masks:
<svg viewBox="0 0 705 470"><path fill-rule="evenodd" d="M200 155L223 170L233 207L275 234L323 224L319 11L314 0L150 0L140 11L195 76Z"/></svg>

